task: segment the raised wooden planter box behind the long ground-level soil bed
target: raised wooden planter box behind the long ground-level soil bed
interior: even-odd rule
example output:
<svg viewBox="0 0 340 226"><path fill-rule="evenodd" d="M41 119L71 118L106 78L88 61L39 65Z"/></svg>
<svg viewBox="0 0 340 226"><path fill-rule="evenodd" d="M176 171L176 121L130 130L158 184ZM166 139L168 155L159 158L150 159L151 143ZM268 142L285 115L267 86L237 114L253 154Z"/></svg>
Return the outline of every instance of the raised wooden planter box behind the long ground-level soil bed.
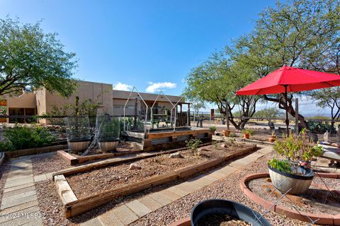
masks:
<svg viewBox="0 0 340 226"><path fill-rule="evenodd" d="M212 131L198 127L183 126L175 129L150 129L147 133L144 131L124 131L124 136L129 141L140 143L143 150L159 150L174 148L178 145L185 145L185 141L191 138L200 138L203 143L212 140Z"/></svg>

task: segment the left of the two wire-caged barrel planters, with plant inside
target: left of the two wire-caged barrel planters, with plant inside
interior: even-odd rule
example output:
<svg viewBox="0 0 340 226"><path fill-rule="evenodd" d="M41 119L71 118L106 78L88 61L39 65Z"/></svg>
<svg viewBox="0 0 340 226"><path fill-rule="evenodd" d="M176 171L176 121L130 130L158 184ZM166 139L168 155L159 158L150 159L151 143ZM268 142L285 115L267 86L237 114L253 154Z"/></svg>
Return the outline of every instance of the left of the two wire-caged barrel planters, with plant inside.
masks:
<svg viewBox="0 0 340 226"><path fill-rule="evenodd" d="M67 143L69 150L73 153L81 153L91 143L91 132L89 126L89 116L66 117Z"/></svg>

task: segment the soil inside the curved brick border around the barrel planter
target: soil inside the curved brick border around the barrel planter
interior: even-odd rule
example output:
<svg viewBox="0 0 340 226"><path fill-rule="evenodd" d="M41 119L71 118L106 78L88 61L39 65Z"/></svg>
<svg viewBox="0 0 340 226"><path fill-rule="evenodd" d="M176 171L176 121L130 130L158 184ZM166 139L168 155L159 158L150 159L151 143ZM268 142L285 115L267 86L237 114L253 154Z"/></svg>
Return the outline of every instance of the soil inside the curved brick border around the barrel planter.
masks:
<svg viewBox="0 0 340 226"><path fill-rule="evenodd" d="M337 184L339 188L340 180L335 180L338 181ZM334 190L335 188L331 188L330 185L331 184L327 184L329 189ZM276 202L278 198L282 196L280 191L274 189L269 177L252 179L248 186L257 196L268 197L268 201L271 203ZM340 213L340 192L328 191L323 183L319 184L314 180L306 194L301 194L299 196L287 194L286 197L280 200L279 205L293 210L296 208L297 210L306 213L327 213L336 215Z"/></svg>

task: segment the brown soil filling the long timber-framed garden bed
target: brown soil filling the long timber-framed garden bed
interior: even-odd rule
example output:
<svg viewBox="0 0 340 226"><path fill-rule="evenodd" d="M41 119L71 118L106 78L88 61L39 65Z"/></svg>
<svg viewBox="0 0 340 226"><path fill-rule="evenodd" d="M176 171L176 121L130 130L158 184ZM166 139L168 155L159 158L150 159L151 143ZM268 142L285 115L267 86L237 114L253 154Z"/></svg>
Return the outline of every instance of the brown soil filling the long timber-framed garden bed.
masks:
<svg viewBox="0 0 340 226"><path fill-rule="evenodd" d="M149 157L137 160L134 163L141 169L129 169L130 163L123 163L112 167L94 169L89 172L79 173L67 177L67 182L71 186L74 194L78 199L85 198L103 191L117 189L122 186L134 184L150 177L159 176L180 169L189 165L196 165L200 162L210 160L216 157L236 151L239 147L246 148L250 146L246 143L234 143L227 148L221 148L219 145L208 145L198 148L197 153L191 150L181 151L181 158L170 158L169 154Z"/></svg>

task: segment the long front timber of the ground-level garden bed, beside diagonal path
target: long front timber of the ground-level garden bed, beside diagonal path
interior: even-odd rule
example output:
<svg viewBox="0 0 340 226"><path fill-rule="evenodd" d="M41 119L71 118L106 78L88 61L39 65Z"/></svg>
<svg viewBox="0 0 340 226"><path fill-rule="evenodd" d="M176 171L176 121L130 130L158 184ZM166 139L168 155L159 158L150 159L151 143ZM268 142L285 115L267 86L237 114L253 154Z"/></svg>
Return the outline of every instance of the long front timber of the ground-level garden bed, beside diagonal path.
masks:
<svg viewBox="0 0 340 226"><path fill-rule="evenodd" d="M123 186L118 189L111 189L108 191L103 191L99 194L95 194L93 196L77 199L74 201L69 201L67 203L64 203L65 216L66 218L72 218L81 213L85 213L88 210L91 210L98 206L102 206L103 204L108 203L112 201L113 199L118 198L120 196L128 196L130 194L135 194L139 191L143 191L145 189L149 189L154 186L173 182L176 179L190 177L193 174L196 174L198 172L202 172L205 169L209 169L211 167L220 165L222 162L231 160L234 157L244 155L245 153L249 153L255 149L256 149L256 145L252 145L249 148L242 148L235 152L228 153L227 155L223 157L218 157L212 160L208 160L198 165L191 165L188 167L183 167L182 169L175 169L174 171L168 172L163 175L150 177L149 179L145 179L142 182L136 182L134 184ZM64 178L64 175L54 175L55 180L62 178L62 177Z"/></svg>

